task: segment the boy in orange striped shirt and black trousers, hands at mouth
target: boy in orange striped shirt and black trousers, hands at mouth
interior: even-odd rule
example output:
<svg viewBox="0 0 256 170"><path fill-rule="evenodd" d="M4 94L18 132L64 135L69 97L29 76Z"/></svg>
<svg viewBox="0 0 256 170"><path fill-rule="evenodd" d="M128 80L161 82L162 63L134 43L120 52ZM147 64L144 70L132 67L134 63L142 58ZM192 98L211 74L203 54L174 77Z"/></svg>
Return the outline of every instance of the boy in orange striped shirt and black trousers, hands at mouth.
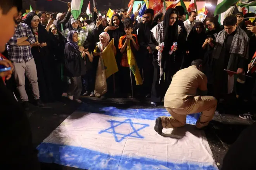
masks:
<svg viewBox="0 0 256 170"><path fill-rule="evenodd" d="M131 53L133 56L135 56L137 54L137 51L139 50L139 46L138 46L138 40L137 40L137 35L135 34L131 34L131 32L133 31L133 23L126 19L125 23L125 36L120 37L119 39L119 50L122 53L122 58L121 58L121 67L120 67L120 71L121 71L121 91L124 95L127 95L125 97L131 97L131 78L132 78L132 85L133 87L135 87L135 76L131 76L130 78L130 69L132 71L132 73L134 74L135 68L133 67L134 65L129 65L128 64L128 55L127 55L127 47L129 46L129 48L131 49ZM134 58L135 59L135 58ZM135 61L136 63L136 61ZM136 64L137 66L137 64ZM138 67L136 67L138 69ZM140 75L139 75L140 76ZM141 79L141 77L140 77ZM137 83L138 84L138 83ZM141 84L141 83L139 83Z"/></svg>

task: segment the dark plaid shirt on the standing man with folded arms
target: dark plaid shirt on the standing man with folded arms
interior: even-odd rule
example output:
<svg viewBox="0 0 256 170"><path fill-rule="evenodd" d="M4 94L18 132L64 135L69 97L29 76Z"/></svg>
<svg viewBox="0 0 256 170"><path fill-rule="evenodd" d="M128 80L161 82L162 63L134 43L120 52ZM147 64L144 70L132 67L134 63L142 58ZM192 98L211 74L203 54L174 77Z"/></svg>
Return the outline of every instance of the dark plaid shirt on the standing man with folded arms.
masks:
<svg viewBox="0 0 256 170"><path fill-rule="evenodd" d="M14 36L9 40L7 45L8 57L10 61L15 63L25 63L33 59L30 46L17 46L17 39L28 37L26 41L30 44L35 43L35 37L30 27L27 24L20 23L15 28Z"/></svg>

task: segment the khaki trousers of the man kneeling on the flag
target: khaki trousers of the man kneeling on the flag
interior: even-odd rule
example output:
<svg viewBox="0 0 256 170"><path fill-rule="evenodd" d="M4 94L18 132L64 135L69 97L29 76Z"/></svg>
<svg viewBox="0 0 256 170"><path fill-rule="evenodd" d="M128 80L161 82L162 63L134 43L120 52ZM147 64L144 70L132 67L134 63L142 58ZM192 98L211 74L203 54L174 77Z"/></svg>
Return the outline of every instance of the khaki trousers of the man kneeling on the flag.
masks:
<svg viewBox="0 0 256 170"><path fill-rule="evenodd" d="M164 128L176 128L185 126L187 114L202 112L199 120L196 122L197 128L207 126L209 121L213 119L217 100L213 96L195 96L191 97L189 105L184 109L174 109L166 107L166 110L171 114L170 117L161 116L162 125Z"/></svg>

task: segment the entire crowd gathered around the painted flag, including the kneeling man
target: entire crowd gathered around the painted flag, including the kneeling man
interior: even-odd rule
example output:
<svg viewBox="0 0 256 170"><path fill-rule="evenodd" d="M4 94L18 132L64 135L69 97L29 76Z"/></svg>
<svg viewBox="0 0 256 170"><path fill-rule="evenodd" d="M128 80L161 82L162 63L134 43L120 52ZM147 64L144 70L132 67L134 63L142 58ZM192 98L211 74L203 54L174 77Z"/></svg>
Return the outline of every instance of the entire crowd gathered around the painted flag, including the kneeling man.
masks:
<svg viewBox="0 0 256 170"><path fill-rule="evenodd" d="M255 20L248 24L241 12L227 16L221 26L216 16L201 22L195 11L187 14L182 6L156 15L147 9L142 18L138 12L129 17L126 10L111 18L100 17L94 8L93 20L83 22L71 15L71 3L66 16L57 14L56 20L45 12L29 12L22 19L21 9L21 0L0 2L1 134L5 139L1 165L40 169L24 114L29 109L29 91L39 107L59 100L64 91L78 103L80 95L106 99L112 93L131 97L133 91L134 96L151 97L154 106L164 98L172 116L156 119L158 133L184 126L186 115L195 112L202 112L196 127L203 128L218 102L230 93L237 101L249 94L256 102L255 77L246 75L256 57L256 26ZM79 45L80 32L92 22L93 30ZM102 62L105 49L117 67L111 74L104 71L108 69ZM98 76L106 82L104 89L95 82ZM240 117L256 121L253 112Z"/></svg>

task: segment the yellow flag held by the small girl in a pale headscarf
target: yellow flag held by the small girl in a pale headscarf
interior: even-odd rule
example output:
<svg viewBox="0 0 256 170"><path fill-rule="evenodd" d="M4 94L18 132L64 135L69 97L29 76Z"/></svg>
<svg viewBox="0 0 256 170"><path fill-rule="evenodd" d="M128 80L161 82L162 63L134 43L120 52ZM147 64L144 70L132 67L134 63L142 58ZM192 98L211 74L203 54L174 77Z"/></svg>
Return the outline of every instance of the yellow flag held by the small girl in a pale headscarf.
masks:
<svg viewBox="0 0 256 170"><path fill-rule="evenodd" d="M109 76L118 72L118 66L112 46L114 46L114 39L112 39L107 47L102 51L106 78L109 78Z"/></svg>

